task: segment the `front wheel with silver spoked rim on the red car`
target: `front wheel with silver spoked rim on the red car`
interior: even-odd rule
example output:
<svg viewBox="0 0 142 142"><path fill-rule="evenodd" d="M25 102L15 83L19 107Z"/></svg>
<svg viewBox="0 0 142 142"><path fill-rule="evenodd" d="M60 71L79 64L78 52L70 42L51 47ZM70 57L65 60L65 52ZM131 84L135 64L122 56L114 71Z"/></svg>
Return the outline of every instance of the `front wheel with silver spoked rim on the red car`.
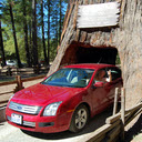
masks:
<svg viewBox="0 0 142 142"><path fill-rule="evenodd" d="M69 131L71 132L81 131L87 125L88 120L89 120L88 108L83 104L79 105L72 115Z"/></svg>

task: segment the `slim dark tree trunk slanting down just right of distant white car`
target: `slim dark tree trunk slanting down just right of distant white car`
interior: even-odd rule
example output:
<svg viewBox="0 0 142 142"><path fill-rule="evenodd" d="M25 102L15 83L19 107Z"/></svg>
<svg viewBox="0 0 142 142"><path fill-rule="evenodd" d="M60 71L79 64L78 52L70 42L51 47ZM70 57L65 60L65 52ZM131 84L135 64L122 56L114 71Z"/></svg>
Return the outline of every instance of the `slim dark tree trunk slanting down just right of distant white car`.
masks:
<svg viewBox="0 0 142 142"><path fill-rule="evenodd" d="M12 32L13 32L13 40L14 40L14 48L16 48L16 55L18 60L18 67L21 68L21 61L19 55L19 49L18 49L18 42L17 42L17 34L16 34L16 28L14 28L14 20L13 20L13 12L12 12L12 4L13 2L9 2L9 10L10 10L10 17L11 17L11 23L12 23Z"/></svg>

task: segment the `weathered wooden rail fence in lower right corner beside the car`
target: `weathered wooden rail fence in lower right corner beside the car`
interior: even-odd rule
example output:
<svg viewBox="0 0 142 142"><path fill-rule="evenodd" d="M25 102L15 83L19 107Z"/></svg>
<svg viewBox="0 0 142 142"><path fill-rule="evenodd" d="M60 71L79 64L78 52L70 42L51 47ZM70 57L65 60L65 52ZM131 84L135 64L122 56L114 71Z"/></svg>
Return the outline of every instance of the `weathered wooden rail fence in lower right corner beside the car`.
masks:
<svg viewBox="0 0 142 142"><path fill-rule="evenodd" d="M116 91L118 92L118 91ZM114 109L115 109L114 102ZM125 110L125 93L121 90L121 111L105 120L105 124L91 133L87 142L124 142L124 126L142 112L142 102ZM113 110L114 112L114 110Z"/></svg>

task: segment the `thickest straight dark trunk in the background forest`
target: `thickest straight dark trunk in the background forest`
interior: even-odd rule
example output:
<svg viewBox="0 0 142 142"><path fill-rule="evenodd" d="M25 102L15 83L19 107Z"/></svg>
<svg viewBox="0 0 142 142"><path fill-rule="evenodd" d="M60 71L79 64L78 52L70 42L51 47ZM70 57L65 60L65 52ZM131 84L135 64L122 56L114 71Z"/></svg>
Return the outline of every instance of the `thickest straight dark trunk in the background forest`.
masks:
<svg viewBox="0 0 142 142"><path fill-rule="evenodd" d="M38 44L37 44L37 0L32 0L32 58L33 65L38 65Z"/></svg>

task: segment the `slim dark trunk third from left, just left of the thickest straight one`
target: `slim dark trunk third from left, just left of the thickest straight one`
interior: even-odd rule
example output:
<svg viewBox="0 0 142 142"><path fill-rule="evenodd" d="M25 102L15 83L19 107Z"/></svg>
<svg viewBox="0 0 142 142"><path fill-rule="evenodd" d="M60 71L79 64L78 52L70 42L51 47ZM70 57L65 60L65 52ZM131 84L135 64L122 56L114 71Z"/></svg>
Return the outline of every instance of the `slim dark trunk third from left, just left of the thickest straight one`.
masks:
<svg viewBox="0 0 142 142"><path fill-rule="evenodd" d="M28 26L27 26L26 0L22 0L22 7L23 7L23 31L24 31L24 48L26 48L26 55L27 55L27 64L28 64L28 67L31 67L29 44L28 44Z"/></svg>

